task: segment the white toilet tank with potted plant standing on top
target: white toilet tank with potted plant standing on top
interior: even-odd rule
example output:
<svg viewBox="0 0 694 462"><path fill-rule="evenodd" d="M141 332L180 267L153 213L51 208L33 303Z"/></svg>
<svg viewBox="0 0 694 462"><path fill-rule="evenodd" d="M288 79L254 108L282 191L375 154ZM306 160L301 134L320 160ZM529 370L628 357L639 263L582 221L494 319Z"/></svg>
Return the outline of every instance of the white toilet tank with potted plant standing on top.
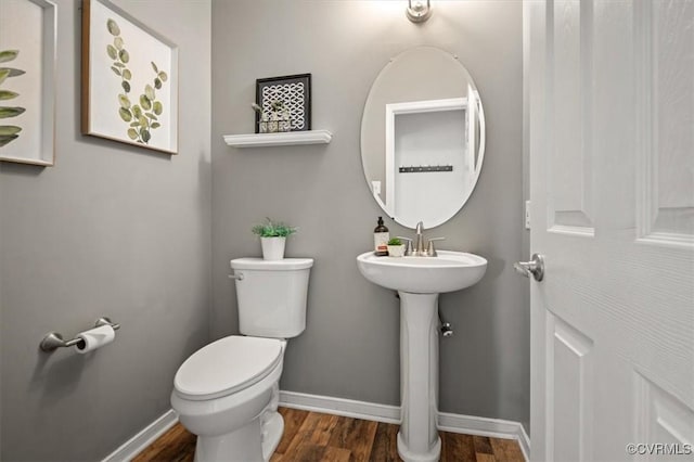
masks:
<svg viewBox="0 0 694 462"><path fill-rule="evenodd" d="M239 330L244 335L290 338L306 329L306 296L312 258L236 258Z"/></svg>

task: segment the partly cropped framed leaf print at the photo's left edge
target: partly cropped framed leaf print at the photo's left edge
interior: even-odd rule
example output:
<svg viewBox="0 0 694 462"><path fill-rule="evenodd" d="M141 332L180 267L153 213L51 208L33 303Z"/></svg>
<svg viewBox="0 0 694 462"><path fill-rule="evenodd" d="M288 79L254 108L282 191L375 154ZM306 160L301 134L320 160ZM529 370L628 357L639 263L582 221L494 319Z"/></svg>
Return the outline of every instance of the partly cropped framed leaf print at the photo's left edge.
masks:
<svg viewBox="0 0 694 462"><path fill-rule="evenodd" d="M0 161L54 163L56 7L0 0Z"/></svg>

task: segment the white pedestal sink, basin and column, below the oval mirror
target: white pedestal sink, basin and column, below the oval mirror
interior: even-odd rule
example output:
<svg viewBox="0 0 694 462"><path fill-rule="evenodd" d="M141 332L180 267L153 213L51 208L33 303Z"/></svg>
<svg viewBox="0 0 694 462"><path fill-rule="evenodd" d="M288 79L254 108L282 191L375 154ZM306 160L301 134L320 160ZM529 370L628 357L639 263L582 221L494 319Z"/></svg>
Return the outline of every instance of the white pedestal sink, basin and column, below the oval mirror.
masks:
<svg viewBox="0 0 694 462"><path fill-rule="evenodd" d="M357 257L361 274L400 295L400 396L398 453L406 462L435 462L441 451L438 412L438 295L477 283L487 260L438 251L437 257Z"/></svg>

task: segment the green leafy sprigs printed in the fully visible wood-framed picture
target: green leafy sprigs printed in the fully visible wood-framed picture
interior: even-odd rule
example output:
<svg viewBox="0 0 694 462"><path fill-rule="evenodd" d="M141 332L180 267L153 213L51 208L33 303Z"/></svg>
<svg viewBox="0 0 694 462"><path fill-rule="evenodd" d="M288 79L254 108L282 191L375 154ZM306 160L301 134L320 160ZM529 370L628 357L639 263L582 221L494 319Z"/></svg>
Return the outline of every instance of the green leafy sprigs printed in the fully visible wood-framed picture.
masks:
<svg viewBox="0 0 694 462"><path fill-rule="evenodd" d="M128 98L128 93L132 89L130 80L132 72L128 68L130 54L125 48L125 41L120 37L120 27L113 21L106 21L106 28L114 36L113 44L106 46L106 54L113 60L111 70L120 77L120 87L124 93L118 94L118 115L129 124L128 138L138 143L147 144L152 139L152 130L162 126L158 116L164 112L162 101L156 99L156 90L162 89L164 82L168 79L168 75L164 70L159 70L154 61L151 62L155 77L152 85L144 86L144 92L138 99L140 104L132 104Z"/></svg>

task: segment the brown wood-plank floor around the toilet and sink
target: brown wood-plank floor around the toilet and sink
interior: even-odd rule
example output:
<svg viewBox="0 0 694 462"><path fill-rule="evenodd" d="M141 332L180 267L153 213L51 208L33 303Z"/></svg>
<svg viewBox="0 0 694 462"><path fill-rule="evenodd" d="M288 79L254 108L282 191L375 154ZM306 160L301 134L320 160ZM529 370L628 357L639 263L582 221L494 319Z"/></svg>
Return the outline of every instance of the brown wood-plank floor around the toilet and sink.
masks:
<svg viewBox="0 0 694 462"><path fill-rule="evenodd" d="M400 461L398 425L280 408L284 434L270 462ZM440 432L441 461L524 462L515 440ZM193 462L195 435L181 424L162 435L133 462Z"/></svg>

